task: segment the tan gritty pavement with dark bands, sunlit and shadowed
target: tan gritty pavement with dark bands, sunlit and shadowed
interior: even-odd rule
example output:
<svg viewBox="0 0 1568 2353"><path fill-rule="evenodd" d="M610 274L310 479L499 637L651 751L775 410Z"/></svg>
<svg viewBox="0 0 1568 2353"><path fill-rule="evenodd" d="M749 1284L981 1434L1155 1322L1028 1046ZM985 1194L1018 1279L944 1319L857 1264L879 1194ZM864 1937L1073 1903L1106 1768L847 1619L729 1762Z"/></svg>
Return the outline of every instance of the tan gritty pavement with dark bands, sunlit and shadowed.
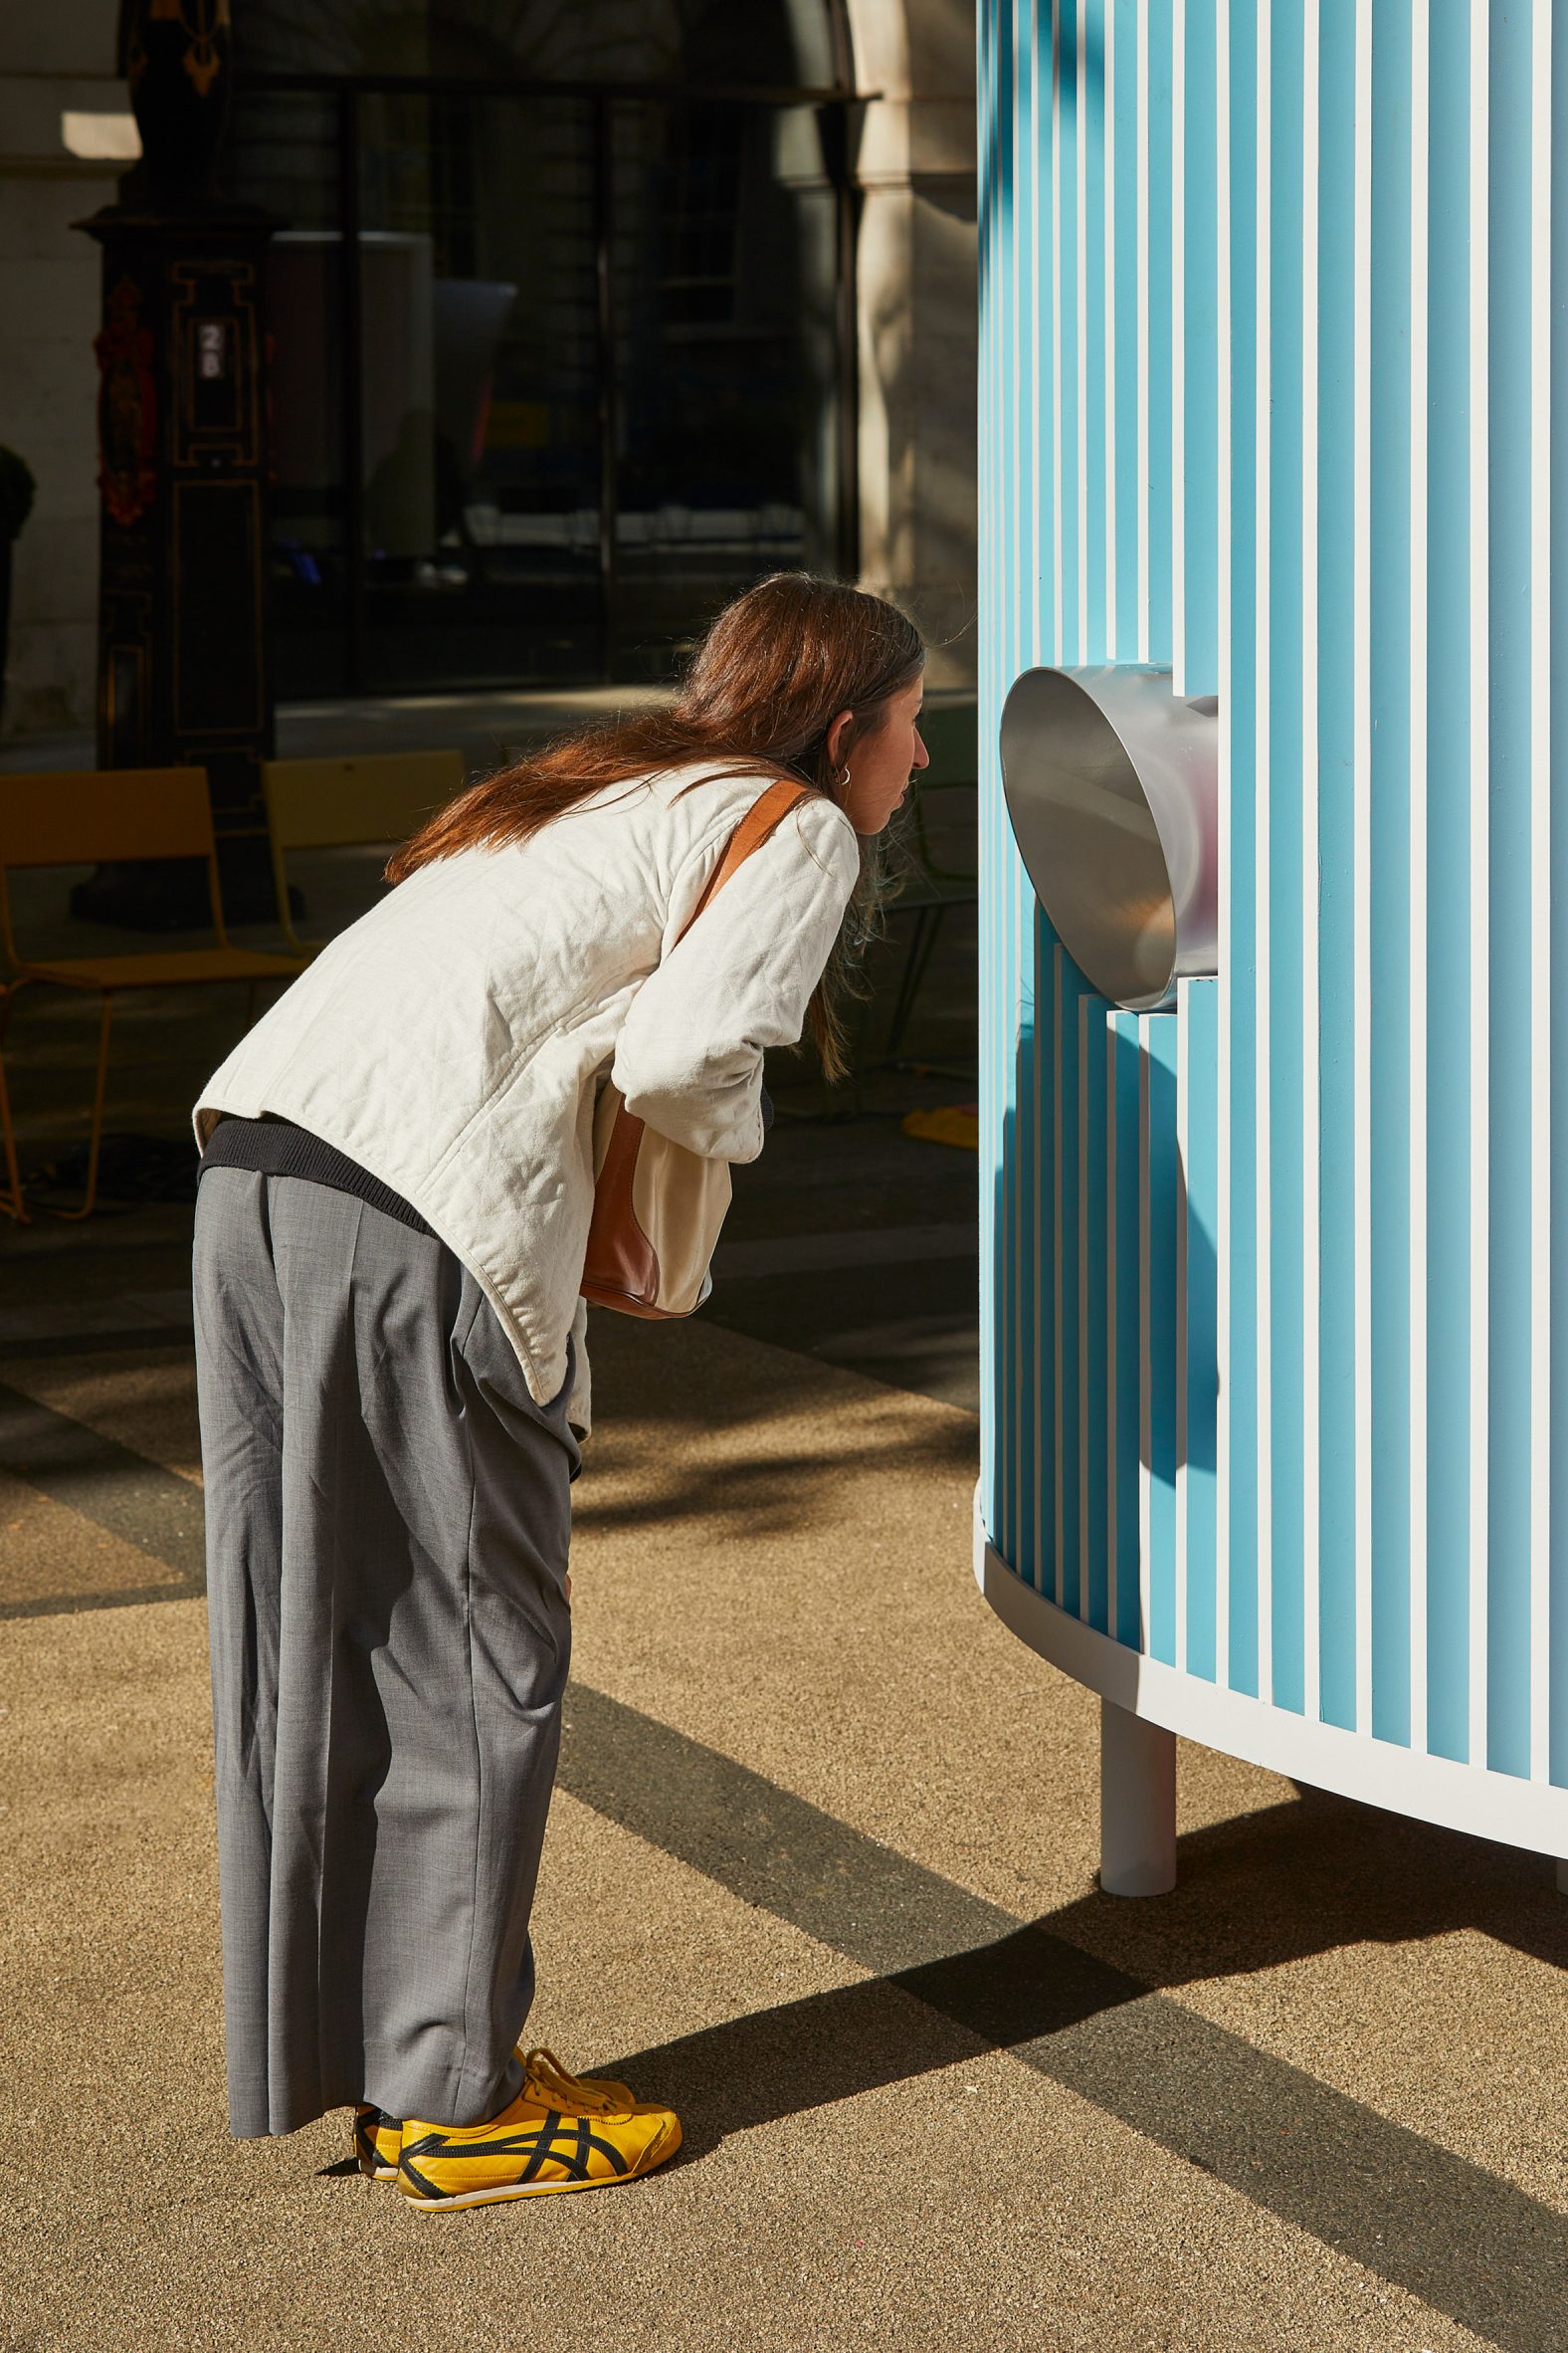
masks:
<svg viewBox="0 0 1568 2353"><path fill-rule="evenodd" d="M40 1153L85 1033L28 1019ZM235 1024L127 1009L110 1125ZM531 2033L686 2122L611 2195L228 2141L188 1207L0 1228L0 2348L1561 2353L1549 1866L1182 1751L1178 1892L1095 1892L1093 1701L969 1574L973 1158L898 1129L971 1089L773 1078L712 1311L592 1337Z"/></svg>

